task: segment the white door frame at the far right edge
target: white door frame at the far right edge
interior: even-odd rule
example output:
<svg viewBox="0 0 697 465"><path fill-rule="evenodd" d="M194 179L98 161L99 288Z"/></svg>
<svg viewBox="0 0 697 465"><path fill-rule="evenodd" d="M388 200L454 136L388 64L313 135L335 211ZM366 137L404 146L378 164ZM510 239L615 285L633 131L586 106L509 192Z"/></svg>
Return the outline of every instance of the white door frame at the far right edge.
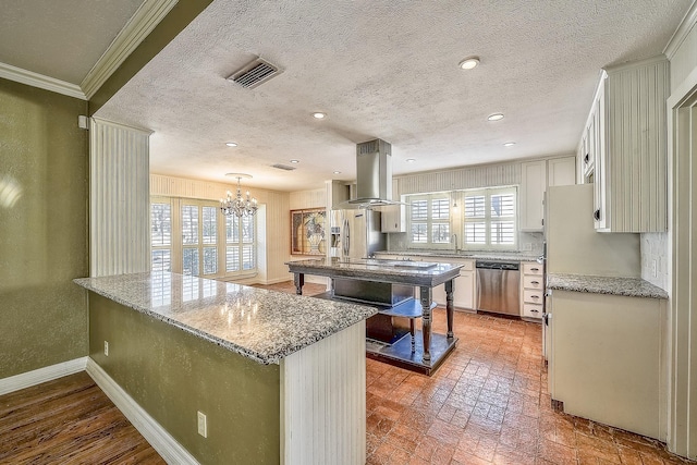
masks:
<svg viewBox="0 0 697 465"><path fill-rule="evenodd" d="M697 458L697 68L668 99L670 451Z"/></svg>

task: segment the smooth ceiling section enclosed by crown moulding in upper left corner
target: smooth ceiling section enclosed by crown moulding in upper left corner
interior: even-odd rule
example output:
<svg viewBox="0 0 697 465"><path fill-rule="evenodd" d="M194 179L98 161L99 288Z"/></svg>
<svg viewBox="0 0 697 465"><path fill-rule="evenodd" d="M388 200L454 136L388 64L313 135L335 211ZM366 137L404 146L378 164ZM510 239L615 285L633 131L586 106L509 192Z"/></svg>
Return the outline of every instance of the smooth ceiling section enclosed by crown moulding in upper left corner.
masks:
<svg viewBox="0 0 697 465"><path fill-rule="evenodd" d="M144 0L0 0L0 62L80 85Z"/></svg>

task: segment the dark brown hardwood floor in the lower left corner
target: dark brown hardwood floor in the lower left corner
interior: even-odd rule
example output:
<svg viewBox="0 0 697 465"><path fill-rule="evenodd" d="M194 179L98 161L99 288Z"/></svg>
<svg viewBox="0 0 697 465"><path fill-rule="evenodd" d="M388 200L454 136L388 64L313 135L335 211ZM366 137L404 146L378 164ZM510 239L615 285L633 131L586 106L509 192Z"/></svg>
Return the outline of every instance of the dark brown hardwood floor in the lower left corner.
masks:
<svg viewBox="0 0 697 465"><path fill-rule="evenodd" d="M164 464L85 371L0 396L0 464Z"/></svg>

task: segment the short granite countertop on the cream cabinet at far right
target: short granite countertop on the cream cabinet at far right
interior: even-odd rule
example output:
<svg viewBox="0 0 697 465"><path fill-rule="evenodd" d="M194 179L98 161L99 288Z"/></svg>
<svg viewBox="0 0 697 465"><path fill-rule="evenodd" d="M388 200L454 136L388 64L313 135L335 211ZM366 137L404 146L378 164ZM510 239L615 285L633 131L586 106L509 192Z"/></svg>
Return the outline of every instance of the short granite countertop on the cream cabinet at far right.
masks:
<svg viewBox="0 0 697 465"><path fill-rule="evenodd" d="M627 297L668 298L668 292L640 278L609 278L582 274L548 274L548 289L624 295Z"/></svg>

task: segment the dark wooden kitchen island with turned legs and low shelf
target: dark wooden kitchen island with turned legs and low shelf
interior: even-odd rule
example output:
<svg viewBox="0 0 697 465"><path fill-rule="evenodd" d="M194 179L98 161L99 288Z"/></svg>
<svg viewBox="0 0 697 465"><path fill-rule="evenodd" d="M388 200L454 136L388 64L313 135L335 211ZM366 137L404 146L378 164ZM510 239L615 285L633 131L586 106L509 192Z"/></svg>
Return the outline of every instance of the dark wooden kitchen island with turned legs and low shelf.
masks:
<svg viewBox="0 0 697 465"><path fill-rule="evenodd" d="M453 281L462 265L375 258L307 259L289 261L297 294L303 293L305 274L331 279L329 292L317 297L360 302L379 308L366 322L366 354L391 365L431 375L453 351ZM447 334L431 331L436 306L432 289L445 285ZM418 299L414 290L418 289ZM407 318L408 331L395 329L394 318ZM421 318L421 331L415 319Z"/></svg>

